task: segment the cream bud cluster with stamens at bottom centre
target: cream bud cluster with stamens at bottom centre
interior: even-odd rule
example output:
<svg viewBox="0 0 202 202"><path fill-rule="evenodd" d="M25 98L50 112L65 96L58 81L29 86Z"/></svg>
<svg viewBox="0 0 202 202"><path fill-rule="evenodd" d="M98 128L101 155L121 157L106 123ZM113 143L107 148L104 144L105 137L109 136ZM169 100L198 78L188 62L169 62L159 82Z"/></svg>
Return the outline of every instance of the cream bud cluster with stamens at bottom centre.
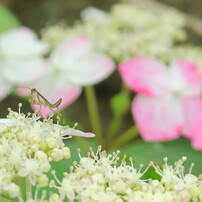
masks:
<svg viewBox="0 0 202 202"><path fill-rule="evenodd" d="M81 157L79 153L79 163L73 163L71 172L64 173L61 182L52 172L56 183L51 181L51 186L58 189L60 200L121 202L132 188L138 189L145 184L140 178L149 166L144 172L141 171L142 166L137 170L132 159L130 165L127 165L126 156L120 159L119 153L107 154L101 151L101 147L96 153L90 149L88 157Z"/></svg>

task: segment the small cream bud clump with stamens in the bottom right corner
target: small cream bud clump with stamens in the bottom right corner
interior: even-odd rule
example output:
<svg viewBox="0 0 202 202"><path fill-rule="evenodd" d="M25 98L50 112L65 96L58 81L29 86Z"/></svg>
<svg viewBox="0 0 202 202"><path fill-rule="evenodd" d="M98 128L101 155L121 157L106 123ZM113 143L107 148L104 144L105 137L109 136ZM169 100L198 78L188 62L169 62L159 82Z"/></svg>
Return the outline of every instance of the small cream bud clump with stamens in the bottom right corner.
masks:
<svg viewBox="0 0 202 202"><path fill-rule="evenodd" d="M161 176L161 184L168 191L175 191L181 201L189 199L190 201L201 201L202 200L202 180L199 177L193 175L192 163L188 173L185 173L185 167L183 163L187 160L186 157L175 162L174 166L168 165L167 158L164 158L163 168L160 169L158 166L154 166L156 172Z"/></svg>

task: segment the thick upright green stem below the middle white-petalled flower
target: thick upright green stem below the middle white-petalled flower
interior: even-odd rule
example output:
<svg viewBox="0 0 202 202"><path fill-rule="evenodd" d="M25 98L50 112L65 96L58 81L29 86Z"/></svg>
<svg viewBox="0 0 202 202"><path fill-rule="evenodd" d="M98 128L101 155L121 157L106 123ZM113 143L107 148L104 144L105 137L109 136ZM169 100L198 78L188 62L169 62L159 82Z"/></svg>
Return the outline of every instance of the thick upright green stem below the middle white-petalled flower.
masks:
<svg viewBox="0 0 202 202"><path fill-rule="evenodd" d="M85 87L85 95L93 132L96 134L98 144L102 144L102 127L97 106L97 99L93 86Z"/></svg>

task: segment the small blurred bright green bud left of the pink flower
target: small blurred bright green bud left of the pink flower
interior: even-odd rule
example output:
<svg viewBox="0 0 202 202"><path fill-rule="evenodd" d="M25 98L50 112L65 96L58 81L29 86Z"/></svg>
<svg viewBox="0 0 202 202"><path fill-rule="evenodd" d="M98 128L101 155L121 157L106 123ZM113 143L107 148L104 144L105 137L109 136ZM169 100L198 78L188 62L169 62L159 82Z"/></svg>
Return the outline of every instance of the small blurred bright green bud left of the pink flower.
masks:
<svg viewBox="0 0 202 202"><path fill-rule="evenodd" d="M130 98L125 93L118 93L111 98L111 107L116 116L121 116L130 106Z"/></svg>

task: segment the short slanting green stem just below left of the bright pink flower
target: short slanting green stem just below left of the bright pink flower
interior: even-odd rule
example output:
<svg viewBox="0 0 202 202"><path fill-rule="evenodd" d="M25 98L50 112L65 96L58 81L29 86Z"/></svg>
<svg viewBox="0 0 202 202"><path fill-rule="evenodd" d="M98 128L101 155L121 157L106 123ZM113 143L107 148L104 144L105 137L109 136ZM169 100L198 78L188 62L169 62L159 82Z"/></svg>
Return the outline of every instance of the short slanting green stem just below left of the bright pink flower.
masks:
<svg viewBox="0 0 202 202"><path fill-rule="evenodd" d="M138 136L138 130L136 126L132 126L130 129L128 129L126 132L124 132L119 138L117 138L113 143L112 147L119 147L123 144L126 144L130 140L134 139Z"/></svg>

